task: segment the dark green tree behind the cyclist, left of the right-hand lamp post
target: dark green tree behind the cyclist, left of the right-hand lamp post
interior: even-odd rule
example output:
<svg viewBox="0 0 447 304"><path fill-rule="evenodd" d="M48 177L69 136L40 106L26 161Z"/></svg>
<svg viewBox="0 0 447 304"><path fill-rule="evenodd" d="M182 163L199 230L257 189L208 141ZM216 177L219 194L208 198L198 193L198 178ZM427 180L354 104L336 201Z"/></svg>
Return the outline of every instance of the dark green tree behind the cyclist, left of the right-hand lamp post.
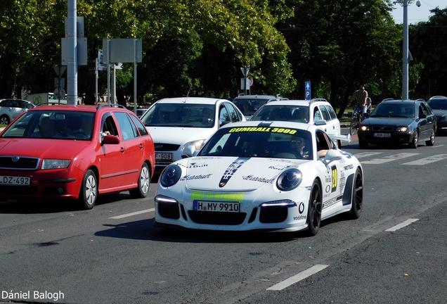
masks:
<svg viewBox="0 0 447 304"><path fill-rule="evenodd" d="M297 1L294 17L278 25L292 49L290 62L302 86L311 81L315 97L330 99L344 111L359 84L381 93L399 64L399 30L391 2L382 0ZM341 114L339 114L341 115Z"/></svg>

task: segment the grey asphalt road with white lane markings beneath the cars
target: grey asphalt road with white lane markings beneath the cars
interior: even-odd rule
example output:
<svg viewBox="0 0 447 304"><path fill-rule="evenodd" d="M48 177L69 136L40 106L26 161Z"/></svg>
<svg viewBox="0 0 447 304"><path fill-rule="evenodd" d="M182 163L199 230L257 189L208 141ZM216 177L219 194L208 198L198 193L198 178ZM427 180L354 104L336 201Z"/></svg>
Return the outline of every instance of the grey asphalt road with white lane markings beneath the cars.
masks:
<svg viewBox="0 0 447 304"><path fill-rule="evenodd" d="M314 237L155 228L155 184L144 200L103 196L89 211L0 202L0 301L444 303L446 146L345 144L365 170L363 214Z"/></svg>

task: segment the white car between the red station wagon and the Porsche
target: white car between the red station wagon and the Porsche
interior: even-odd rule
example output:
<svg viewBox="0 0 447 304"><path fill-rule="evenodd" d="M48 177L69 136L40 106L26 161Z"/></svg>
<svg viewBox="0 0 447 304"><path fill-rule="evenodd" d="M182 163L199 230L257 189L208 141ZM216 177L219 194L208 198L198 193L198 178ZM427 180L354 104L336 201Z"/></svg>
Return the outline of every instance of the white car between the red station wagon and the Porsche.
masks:
<svg viewBox="0 0 447 304"><path fill-rule="evenodd" d="M199 151L221 126L245 120L231 101L205 97L161 99L141 117L154 140L157 170L184 158L188 146Z"/></svg>

